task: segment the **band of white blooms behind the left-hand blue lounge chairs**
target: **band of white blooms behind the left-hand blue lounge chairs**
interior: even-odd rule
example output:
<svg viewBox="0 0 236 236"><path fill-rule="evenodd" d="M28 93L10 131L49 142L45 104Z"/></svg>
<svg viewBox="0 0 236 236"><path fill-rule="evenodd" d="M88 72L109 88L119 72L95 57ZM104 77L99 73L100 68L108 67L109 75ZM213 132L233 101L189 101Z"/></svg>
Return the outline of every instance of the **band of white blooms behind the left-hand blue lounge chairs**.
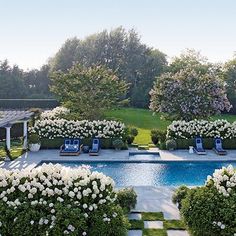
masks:
<svg viewBox="0 0 236 236"><path fill-rule="evenodd" d="M121 138L125 131L125 125L117 121L69 121L65 119L37 120L30 133L37 133L41 138Z"/></svg>

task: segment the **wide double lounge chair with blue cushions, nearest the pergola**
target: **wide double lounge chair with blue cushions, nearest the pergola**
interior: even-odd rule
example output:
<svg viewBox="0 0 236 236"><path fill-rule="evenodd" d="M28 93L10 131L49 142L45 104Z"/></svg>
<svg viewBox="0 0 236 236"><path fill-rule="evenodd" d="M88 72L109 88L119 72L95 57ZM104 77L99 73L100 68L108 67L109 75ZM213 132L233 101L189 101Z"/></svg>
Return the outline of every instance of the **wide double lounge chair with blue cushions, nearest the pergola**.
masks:
<svg viewBox="0 0 236 236"><path fill-rule="evenodd" d="M60 147L60 156L77 156L80 154L79 139L65 139L64 144Z"/></svg>

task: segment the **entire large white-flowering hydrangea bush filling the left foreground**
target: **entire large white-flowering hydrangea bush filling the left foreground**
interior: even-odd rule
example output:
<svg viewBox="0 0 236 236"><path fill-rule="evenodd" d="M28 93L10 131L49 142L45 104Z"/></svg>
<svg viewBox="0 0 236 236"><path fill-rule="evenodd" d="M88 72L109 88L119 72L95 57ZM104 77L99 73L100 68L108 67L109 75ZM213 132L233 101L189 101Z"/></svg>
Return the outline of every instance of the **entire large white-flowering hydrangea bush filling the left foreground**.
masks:
<svg viewBox="0 0 236 236"><path fill-rule="evenodd" d="M0 169L1 235L126 235L114 181L86 167Z"/></svg>

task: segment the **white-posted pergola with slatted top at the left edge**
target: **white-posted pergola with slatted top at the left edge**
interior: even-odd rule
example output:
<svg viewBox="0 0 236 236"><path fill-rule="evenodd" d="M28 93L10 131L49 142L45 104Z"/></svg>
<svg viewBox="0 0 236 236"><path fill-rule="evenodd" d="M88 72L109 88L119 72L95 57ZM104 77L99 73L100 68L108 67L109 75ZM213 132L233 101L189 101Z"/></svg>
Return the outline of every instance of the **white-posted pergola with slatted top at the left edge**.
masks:
<svg viewBox="0 0 236 236"><path fill-rule="evenodd" d="M7 110L0 111L0 127L6 129L6 146L7 149L11 149L11 127L16 123L23 123L23 136L24 144L23 147L27 148L27 123L30 120L30 117L33 115L33 112L30 111L15 111Z"/></svg>

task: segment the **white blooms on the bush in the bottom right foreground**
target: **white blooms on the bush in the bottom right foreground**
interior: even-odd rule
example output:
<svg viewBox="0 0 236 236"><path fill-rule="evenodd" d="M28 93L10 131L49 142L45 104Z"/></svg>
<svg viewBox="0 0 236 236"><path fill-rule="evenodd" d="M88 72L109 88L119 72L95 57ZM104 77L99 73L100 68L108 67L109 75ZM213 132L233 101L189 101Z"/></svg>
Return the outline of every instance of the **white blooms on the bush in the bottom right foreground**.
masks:
<svg viewBox="0 0 236 236"><path fill-rule="evenodd" d="M236 192L236 171L232 165L217 169L213 176L208 176L206 185L213 184L219 193L225 197L230 196L232 192Z"/></svg>

